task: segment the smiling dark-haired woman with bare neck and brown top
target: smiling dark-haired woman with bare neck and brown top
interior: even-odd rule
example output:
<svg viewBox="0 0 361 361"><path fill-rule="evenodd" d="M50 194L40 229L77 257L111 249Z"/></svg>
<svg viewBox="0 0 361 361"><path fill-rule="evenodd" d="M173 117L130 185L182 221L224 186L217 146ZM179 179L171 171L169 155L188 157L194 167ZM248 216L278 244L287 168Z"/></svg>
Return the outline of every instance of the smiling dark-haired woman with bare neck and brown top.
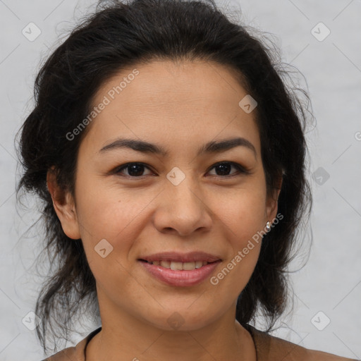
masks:
<svg viewBox="0 0 361 361"><path fill-rule="evenodd" d="M350 360L269 335L310 211L281 73L201 1L114 1L49 57L20 140L55 267L37 335L102 327L47 360Z"/></svg>

